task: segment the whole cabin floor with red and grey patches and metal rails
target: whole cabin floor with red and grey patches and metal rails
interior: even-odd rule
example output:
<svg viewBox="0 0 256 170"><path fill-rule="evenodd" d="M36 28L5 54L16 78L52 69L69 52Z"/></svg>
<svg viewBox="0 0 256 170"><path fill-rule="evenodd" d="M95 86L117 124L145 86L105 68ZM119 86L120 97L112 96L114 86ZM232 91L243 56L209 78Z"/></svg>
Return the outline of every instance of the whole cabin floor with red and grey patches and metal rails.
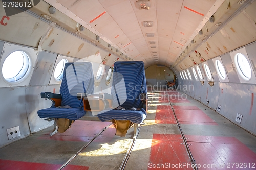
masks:
<svg viewBox="0 0 256 170"><path fill-rule="evenodd" d="M148 92L148 115L125 169L193 169L174 112L198 169L255 169L256 137L182 94ZM37 132L1 148L0 169L58 169L109 124L77 120L62 134ZM111 125L64 169L119 169L132 137L133 128L119 137Z"/></svg>

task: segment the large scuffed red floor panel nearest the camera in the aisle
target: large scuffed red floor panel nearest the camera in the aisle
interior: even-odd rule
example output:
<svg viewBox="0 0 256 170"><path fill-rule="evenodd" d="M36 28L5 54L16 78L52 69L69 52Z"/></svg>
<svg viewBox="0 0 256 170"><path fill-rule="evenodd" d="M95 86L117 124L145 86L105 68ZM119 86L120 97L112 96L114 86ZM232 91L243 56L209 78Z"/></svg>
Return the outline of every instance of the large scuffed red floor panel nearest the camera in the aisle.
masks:
<svg viewBox="0 0 256 170"><path fill-rule="evenodd" d="M147 169L191 169L189 165L181 135L153 134Z"/></svg>

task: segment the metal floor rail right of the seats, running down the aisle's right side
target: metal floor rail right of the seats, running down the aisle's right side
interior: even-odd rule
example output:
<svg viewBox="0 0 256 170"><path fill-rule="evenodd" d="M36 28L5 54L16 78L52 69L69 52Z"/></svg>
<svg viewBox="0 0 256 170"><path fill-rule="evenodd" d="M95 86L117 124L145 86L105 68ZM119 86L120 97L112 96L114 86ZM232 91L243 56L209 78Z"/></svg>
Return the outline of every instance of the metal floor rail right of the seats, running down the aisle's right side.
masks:
<svg viewBox="0 0 256 170"><path fill-rule="evenodd" d="M188 153L190 162L192 163L192 165L194 165L193 168L194 168L195 170L198 170L196 160L193 158L193 155L192 155L192 153L191 153L191 151L190 151L190 149L189 149L189 147L188 147L187 140L186 140L185 135L184 135L184 133L183 133L183 131L182 131L182 129L181 129L179 120L178 120L178 118L176 117L176 114L175 114L173 105L172 105L172 103L170 102L170 100L169 100L169 98L168 98L168 95L166 95L166 96L167 96L167 99L168 99L168 101L169 101L169 103L170 103L170 107L172 107L172 110L173 110L173 113L174 113L174 117L175 117L175 119L176 119L177 126L178 126L179 129L180 129L181 137L182 137L182 140L183 140L184 145L185 145L185 147L186 147L186 150L187 150L187 153Z"/></svg>

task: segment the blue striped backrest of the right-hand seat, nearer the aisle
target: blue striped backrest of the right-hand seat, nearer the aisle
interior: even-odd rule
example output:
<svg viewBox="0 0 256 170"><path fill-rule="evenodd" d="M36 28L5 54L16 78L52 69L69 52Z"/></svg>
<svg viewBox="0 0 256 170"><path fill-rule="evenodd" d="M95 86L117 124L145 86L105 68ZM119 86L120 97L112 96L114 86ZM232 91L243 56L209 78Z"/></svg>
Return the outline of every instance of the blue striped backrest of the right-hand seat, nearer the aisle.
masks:
<svg viewBox="0 0 256 170"><path fill-rule="evenodd" d="M123 81L122 78L125 87L118 85ZM127 109L138 108L141 103L139 100L140 93L147 93L144 63L142 61L115 62L111 89L111 94L114 96L113 106L119 106L120 103L121 107Z"/></svg>

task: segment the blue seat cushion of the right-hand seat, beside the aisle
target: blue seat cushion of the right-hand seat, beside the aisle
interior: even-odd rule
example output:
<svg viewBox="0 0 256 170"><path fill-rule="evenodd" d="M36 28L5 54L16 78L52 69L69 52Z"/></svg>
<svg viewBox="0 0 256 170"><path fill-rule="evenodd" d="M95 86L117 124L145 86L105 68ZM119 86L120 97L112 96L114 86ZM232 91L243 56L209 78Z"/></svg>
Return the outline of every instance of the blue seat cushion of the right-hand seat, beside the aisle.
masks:
<svg viewBox="0 0 256 170"><path fill-rule="evenodd" d="M104 110L98 113L101 121L115 120L130 120L134 123L142 123L146 118L146 111L142 108L140 110Z"/></svg>

